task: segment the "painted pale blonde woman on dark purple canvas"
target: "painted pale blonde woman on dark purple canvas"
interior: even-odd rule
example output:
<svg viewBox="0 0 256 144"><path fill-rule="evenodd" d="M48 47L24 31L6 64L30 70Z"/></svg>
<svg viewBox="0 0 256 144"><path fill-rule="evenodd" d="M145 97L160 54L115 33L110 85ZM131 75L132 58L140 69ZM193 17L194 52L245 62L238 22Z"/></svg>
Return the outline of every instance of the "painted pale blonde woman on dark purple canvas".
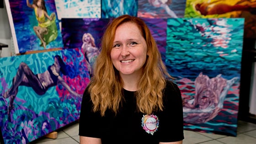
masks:
<svg viewBox="0 0 256 144"><path fill-rule="evenodd" d="M99 49L95 45L95 40L92 37L91 33L85 33L82 38L82 53L85 54L85 59L87 63L87 68L89 69L91 75L91 68L99 55Z"/></svg>

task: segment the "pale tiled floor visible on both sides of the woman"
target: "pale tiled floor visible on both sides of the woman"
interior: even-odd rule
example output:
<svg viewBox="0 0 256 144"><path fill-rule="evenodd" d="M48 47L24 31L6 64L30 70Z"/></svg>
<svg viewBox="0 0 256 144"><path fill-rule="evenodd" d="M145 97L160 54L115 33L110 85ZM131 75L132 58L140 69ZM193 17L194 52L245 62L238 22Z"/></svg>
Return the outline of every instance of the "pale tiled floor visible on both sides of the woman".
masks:
<svg viewBox="0 0 256 144"><path fill-rule="evenodd" d="M79 123L61 128L57 139L40 138L31 144L79 144ZM237 136L184 131L183 144L256 144L256 124L238 121Z"/></svg>

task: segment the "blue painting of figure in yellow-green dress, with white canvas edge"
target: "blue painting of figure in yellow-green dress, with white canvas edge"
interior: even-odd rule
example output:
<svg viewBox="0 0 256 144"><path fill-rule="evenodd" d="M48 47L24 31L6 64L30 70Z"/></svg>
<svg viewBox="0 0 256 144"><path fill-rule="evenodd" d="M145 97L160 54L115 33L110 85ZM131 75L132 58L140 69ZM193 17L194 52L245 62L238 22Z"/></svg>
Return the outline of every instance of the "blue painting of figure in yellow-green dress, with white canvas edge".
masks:
<svg viewBox="0 0 256 144"><path fill-rule="evenodd" d="M54 0L5 0L15 53L62 48Z"/></svg>

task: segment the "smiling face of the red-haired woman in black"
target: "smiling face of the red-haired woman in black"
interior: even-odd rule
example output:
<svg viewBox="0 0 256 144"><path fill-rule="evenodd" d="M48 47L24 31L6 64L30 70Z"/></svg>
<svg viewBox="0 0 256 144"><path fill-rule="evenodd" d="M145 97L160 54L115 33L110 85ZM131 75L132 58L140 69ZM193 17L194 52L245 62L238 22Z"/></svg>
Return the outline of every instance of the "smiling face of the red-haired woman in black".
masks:
<svg viewBox="0 0 256 144"><path fill-rule="evenodd" d="M126 22L117 27L110 55L121 76L142 74L147 43L136 24Z"/></svg>

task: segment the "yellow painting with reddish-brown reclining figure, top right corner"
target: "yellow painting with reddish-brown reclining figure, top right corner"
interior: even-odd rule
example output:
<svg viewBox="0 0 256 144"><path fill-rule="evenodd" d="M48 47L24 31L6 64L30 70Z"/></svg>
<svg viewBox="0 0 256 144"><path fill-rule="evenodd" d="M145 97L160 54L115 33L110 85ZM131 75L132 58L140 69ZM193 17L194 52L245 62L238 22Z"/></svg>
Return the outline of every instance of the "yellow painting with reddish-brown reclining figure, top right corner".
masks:
<svg viewBox="0 0 256 144"><path fill-rule="evenodd" d="M186 18L245 18L244 37L256 38L256 0L187 0Z"/></svg>

